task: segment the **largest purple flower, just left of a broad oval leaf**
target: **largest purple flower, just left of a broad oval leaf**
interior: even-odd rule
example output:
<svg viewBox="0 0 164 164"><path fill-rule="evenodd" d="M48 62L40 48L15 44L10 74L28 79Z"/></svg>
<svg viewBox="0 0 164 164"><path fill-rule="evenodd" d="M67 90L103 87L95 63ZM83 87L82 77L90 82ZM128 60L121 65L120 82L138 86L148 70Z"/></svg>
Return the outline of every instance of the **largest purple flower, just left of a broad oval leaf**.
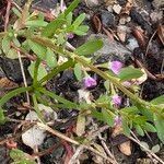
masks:
<svg viewBox="0 0 164 164"><path fill-rule="evenodd" d="M109 69L115 73L115 74L119 74L119 72L121 71L122 68L122 63L120 61L112 61L109 62Z"/></svg>

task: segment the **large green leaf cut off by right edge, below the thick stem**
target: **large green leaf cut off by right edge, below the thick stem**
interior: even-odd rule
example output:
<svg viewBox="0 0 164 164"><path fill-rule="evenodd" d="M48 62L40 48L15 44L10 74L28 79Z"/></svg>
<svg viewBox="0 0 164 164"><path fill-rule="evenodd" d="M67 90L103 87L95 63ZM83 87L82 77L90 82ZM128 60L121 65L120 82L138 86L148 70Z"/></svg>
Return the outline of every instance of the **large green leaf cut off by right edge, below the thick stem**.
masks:
<svg viewBox="0 0 164 164"><path fill-rule="evenodd" d="M159 139L164 143L164 118L154 114L154 125Z"/></svg>

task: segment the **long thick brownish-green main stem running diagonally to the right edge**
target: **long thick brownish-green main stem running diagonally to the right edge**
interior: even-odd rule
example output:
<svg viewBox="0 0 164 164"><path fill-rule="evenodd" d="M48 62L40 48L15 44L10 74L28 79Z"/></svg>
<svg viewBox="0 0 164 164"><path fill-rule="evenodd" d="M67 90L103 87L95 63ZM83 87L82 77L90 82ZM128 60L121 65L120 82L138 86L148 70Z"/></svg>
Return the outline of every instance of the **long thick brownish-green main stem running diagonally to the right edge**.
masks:
<svg viewBox="0 0 164 164"><path fill-rule="evenodd" d="M133 93L131 93L129 90L127 90L124 85L121 85L121 83L114 77L103 72L102 70L99 70L98 68L94 67L93 65L90 65L85 59L83 59L82 57L70 52L66 49L61 49L60 47L57 47L57 45L55 45L50 39L48 38L44 38L44 37L39 37L39 36L31 36L32 40L35 40L36 43L47 46L49 48L51 48L55 52L61 55L61 56L66 56L68 58L72 58L73 60L75 60L77 62L83 65L84 67L90 68L92 71L94 71L95 73L97 73L98 75L101 75L102 78L104 78L105 80L109 80L113 84L115 84L120 91L122 91L127 96L129 96L133 102L137 102L141 105L143 105L145 108L150 108L152 112L162 115L164 117L163 114L161 114L161 110L163 109L162 107L159 107L157 105L153 105L150 104L141 98L139 98L137 95L134 95Z"/></svg>

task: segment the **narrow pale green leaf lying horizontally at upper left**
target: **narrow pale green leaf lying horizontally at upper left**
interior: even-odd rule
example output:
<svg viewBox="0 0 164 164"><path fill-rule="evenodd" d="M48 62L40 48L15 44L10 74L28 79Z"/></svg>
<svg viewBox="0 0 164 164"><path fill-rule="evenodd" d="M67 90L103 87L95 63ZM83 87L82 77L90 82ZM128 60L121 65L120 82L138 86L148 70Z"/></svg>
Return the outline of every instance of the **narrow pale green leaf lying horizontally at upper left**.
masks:
<svg viewBox="0 0 164 164"><path fill-rule="evenodd" d="M25 22L25 26L33 26L33 27L44 27L46 26L48 23L43 21L43 20L31 20Z"/></svg>

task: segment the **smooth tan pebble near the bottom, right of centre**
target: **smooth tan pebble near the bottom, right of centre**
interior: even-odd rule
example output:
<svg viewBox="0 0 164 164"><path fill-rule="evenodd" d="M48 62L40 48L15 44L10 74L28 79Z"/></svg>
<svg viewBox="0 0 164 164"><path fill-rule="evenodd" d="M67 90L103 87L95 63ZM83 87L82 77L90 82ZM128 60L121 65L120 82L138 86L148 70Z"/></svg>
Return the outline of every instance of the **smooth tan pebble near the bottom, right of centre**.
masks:
<svg viewBox="0 0 164 164"><path fill-rule="evenodd" d="M119 145L119 150L122 154L129 156L131 155L131 142L126 141Z"/></svg>

